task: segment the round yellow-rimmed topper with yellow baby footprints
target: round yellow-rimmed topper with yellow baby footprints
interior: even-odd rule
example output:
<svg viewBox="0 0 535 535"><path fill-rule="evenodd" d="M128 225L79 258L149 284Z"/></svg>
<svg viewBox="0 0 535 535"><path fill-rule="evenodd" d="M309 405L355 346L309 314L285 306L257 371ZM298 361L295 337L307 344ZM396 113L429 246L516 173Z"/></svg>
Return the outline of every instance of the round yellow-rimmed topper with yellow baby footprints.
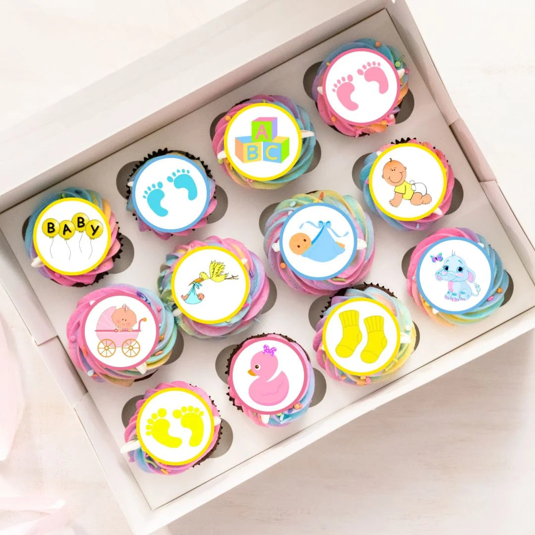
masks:
<svg viewBox="0 0 535 535"><path fill-rule="evenodd" d="M189 464L208 450L215 432L212 408L186 388L164 388L150 396L136 422L141 448L164 464Z"/></svg>

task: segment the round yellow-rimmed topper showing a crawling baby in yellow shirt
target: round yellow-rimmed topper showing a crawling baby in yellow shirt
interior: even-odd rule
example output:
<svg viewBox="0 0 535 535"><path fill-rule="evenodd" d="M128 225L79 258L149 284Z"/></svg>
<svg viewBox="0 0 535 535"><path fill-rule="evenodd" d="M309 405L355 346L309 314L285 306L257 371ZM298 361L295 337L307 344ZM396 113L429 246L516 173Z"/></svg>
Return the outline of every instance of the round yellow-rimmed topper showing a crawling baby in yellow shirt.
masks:
<svg viewBox="0 0 535 535"><path fill-rule="evenodd" d="M377 208L400 221L417 221L437 211L446 186L447 172L439 157L418 143L388 147L370 171L370 194Z"/></svg>

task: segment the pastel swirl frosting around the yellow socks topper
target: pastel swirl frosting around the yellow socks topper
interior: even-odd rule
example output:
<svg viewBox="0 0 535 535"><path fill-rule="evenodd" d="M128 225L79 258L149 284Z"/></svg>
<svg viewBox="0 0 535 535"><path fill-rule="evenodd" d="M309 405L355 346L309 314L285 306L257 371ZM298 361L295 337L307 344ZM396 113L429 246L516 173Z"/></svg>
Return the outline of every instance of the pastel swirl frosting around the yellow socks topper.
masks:
<svg viewBox="0 0 535 535"><path fill-rule="evenodd" d="M400 332L406 333L410 337L410 341L401 342L398 353L393 360L389 362L386 368L371 376L356 376L340 370L334 365L330 358L328 358L323 346L323 328L328 316L331 314L334 307L349 299L354 299L355 297L367 297L368 299L373 299L385 305L396 318ZM365 386L388 379L392 373L398 371L414 351L415 344L416 329L412 323L408 308L387 289L377 285L364 284L355 288L347 288L345 292L340 292L340 294L332 297L327 309L323 312L322 318L316 325L316 335L312 347L314 347L314 350L316 351L318 364L327 372L327 375L349 385Z"/></svg>

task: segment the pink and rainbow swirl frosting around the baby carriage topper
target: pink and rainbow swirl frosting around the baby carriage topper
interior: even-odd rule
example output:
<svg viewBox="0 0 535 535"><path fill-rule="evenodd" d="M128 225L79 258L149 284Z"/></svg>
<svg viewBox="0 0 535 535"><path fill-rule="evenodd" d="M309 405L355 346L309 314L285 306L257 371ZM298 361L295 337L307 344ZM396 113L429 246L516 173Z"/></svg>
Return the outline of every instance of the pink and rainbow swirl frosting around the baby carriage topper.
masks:
<svg viewBox="0 0 535 535"><path fill-rule="evenodd" d="M152 354L145 362L147 372L143 375L137 369L117 370L106 366L87 351L81 336L83 320L91 308L91 303L104 299L117 292L126 296L131 295L144 301L154 312L159 326L159 339ZM135 379L150 375L165 364L177 340L177 326L174 323L171 311L164 307L159 297L145 288L136 288L127 284L114 284L90 292L80 301L67 322L68 354L73 364L84 374L98 382L104 380L121 386L131 386Z"/></svg>

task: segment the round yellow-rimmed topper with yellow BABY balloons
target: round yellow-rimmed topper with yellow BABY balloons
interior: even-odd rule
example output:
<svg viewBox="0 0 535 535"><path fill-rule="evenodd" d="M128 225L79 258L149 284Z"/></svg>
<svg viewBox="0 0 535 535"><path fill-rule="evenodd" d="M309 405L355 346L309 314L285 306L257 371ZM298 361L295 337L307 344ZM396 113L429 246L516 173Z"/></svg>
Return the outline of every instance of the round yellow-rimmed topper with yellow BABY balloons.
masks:
<svg viewBox="0 0 535 535"><path fill-rule="evenodd" d="M67 197L50 203L37 217L35 252L56 273L81 275L102 263L111 246L108 219L95 204Z"/></svg>

